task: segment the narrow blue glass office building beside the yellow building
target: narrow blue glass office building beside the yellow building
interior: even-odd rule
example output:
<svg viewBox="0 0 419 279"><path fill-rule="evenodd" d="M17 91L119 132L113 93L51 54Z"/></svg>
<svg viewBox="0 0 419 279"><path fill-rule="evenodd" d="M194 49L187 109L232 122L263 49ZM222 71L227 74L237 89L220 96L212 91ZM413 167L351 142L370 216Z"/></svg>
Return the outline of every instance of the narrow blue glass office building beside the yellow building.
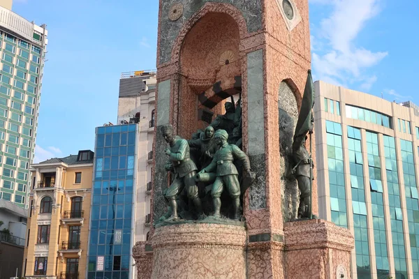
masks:
<svg viewBox="0 0 419 279"><path fill-rule="evenodd" d="M87 278L132 278L138 124L96 128Z"/></svg>

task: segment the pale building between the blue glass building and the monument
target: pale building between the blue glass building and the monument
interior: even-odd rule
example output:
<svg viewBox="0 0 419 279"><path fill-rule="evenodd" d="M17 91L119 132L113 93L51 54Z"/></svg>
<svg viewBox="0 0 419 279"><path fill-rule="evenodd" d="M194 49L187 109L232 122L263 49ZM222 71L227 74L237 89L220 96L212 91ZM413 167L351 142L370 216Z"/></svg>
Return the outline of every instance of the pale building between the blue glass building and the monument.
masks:
<svg viewBox="0 0 419 279"><path fill-rule="evenodd" d="M155 125L156 72L122 73L118 123L139 123L135 242L147 240L151 220L152 159Z"/></svg>

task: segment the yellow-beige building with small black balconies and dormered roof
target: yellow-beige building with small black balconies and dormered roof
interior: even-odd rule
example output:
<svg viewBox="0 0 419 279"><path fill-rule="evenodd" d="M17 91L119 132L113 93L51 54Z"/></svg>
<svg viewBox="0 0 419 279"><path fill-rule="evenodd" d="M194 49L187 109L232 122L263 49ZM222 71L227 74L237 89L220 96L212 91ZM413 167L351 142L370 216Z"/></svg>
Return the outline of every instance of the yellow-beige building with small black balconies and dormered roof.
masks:
<svg viewBox="0 0 419 279"><path fill-rule="evenodd" d="M94 153L31 165L25 278L85 278Z"/></svg>

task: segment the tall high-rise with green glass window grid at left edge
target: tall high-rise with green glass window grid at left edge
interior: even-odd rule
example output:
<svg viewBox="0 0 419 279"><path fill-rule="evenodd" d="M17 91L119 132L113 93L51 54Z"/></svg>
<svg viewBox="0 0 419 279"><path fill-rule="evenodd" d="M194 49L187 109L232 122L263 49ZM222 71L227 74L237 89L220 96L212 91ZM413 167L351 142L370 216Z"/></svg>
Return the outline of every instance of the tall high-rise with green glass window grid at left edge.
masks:
<svg viewBox="0 0 419 279"><path fill-rule="evenodd" d="M22 207L34 158L45 28L0 6L0 199Z"/></svg>

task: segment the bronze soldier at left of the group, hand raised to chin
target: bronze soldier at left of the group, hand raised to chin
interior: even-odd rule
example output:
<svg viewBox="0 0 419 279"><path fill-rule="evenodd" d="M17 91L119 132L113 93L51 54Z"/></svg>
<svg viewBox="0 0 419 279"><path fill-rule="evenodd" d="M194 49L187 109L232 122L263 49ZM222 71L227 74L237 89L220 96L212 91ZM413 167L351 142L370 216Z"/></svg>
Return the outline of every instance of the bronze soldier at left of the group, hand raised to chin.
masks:
<svg viewBox="0 0 419 279"><path fill-rule="evenodd" d="M177 196L182 193L186 187L186 193L189 199L192 200L196 207L198 217L202 218L203 209L200 198L198 197L198 186L195 182L196 165L190 158L189 144L186 140L177 135L173 135L173 127L165 125L161 128L161 133L170 148L166 149L165 153L169 156L169 162L166 165L166 170L172 169L175 173L175 180L172 185L165 191L164 196L168 202L172 214L167 221L177 221Z"/></svg>

